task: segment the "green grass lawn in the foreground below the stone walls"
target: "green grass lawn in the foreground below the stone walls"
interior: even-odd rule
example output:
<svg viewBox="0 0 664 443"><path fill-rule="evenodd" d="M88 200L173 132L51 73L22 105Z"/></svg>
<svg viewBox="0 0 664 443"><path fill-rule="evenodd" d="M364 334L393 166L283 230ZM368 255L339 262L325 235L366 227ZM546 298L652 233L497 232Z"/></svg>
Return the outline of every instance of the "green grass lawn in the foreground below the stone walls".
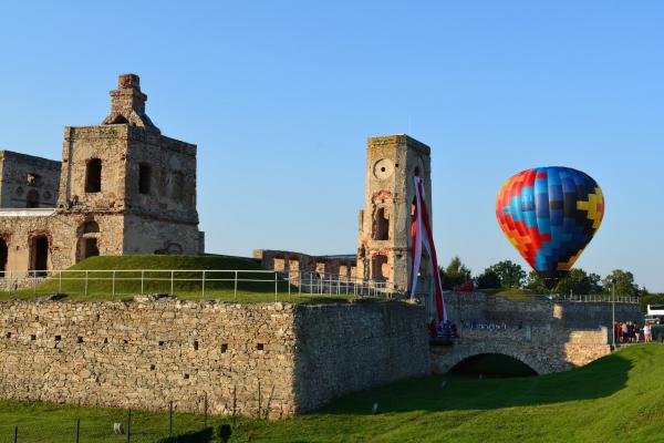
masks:
<svg viewBox="0 0 664 443"><path fill-rule="evenodd" d="M283 421L241 420L231 442L661 442L664 347L623 349L573 371L525 378L427 377L340 399L329 408ZM374 402L380 413L371 414ZM0 442L118 442L120 410L0 402ZM136 442L167 432L167 413L136 413ZM177 414L178 432L203 425ZM228 423L215 418L212 424ZM22 430L25 430L22 433ZM149 440L153 439L153 440ZM125 440L126 441L126 436ZM211 442L203 433L194 440Z"/></svg>

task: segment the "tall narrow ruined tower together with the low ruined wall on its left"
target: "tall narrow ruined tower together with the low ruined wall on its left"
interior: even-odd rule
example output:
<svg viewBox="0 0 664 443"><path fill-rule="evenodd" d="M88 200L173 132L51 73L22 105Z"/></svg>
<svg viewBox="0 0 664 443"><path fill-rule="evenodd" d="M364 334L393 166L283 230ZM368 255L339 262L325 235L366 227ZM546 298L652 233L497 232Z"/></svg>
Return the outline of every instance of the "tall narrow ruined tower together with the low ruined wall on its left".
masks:
<svg viewBox="0 0 664 443"><path fill-rule="evenodd" d="M424 181L425 203L432 208L430 148L407 135L371 137L366 148L364 209L360 212L357 254L309 256L286 250L256 250L268 269L314 271L342 279L386 281L406 291L412 267L411 225L415 202L414 176ZM432 218L433 219L433 218ZM428 257L423 256L419 292L433 289Z"/></svg>

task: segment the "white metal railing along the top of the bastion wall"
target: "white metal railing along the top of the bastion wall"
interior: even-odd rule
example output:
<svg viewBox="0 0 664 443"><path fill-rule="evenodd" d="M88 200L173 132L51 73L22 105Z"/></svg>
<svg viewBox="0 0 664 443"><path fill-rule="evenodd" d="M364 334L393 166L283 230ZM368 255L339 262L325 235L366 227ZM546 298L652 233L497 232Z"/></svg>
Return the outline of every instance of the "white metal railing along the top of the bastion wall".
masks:
<svg viewBox="0 0 664 443"><path fill-rule="evenodd" d="M331 274L263 269L90 269L0 272L0 291L38 293L137 295L168 293L214 297L220 291L279 295L321 295L393 298L387 281Z"/></svg>

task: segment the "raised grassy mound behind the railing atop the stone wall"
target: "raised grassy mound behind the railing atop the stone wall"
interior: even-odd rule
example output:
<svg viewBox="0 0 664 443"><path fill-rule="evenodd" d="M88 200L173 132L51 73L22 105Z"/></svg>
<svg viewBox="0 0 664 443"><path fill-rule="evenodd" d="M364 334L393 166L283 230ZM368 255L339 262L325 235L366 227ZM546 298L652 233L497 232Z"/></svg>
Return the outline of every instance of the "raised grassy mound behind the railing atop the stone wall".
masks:
<svg viewBox="0 0 664 443"><path fill-rule="evenodd" d="M106 270L115 270L115 277ZM239 270L237 290L234 282L235 270ZM201 281L204 271L205 287ZM129 300L137 293L174 293L179 299L261 302L274 301L276 287L279 301L343 302L352 298L299 295L298 288L292 285L289 296L287 281L278 279L276 282L273 272L266 272L248 258L151 255L91 257L68 271L54 274L34 289L0 292L0 299L31 299L62 293L66 296L65 299L71 300Z"/></svg>

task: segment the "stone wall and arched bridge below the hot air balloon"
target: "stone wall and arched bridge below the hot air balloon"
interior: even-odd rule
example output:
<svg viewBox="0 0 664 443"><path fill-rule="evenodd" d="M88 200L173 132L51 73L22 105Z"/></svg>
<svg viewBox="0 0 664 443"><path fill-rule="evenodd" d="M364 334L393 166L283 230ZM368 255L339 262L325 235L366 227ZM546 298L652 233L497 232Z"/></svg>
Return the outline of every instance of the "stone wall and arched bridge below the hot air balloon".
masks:
<svg viewBox="0 0 664 443"><path fill-rule="evenodd" d="M499 353L544 374L581 367L611 352L610 302L544 297L513 301L479 292L446 292L445 306L459 338L452 347L432 346L435 373L445 373L474 356ZM641 305L616 302L615 321L627 320L643 323Z"/></svg>

